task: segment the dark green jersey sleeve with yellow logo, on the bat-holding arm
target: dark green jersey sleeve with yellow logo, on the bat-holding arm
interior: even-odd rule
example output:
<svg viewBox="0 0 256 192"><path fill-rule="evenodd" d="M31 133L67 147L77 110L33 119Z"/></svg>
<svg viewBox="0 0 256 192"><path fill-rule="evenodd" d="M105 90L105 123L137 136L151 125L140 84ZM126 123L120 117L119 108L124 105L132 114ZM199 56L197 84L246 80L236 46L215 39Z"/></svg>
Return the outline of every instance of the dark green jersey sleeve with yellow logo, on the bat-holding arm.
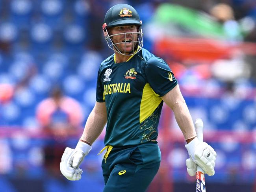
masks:
<svg viewBox="0 0 256 192"><path fill-rule="evenodd" d="M164 96L178 83L169 65L160 57L148 59L145 74L150 87L160 97Z"/></svg>

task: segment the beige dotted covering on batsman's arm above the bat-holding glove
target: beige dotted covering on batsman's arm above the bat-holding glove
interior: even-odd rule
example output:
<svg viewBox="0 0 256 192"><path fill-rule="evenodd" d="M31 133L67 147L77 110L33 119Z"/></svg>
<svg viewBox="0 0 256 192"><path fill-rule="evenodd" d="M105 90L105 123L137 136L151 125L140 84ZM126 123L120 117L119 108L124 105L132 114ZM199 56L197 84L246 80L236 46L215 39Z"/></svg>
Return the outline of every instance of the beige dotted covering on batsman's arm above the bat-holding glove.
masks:
<svg viewBox="0 0 256 192"><path fill-rule="evenodd" d="M185 139L193 138L197 134L187 104L177 84L172 90L161 97L163 101L173 110L176 122L180 127Z"/></svg>

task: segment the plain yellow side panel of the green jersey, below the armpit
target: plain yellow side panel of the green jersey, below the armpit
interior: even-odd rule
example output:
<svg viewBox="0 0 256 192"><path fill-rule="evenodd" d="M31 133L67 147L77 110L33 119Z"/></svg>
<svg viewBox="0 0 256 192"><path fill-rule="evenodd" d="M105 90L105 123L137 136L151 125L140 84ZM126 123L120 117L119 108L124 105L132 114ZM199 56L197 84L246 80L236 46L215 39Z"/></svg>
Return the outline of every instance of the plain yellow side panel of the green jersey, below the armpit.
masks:
<svg viewBox="0 0 256 192"><path fill-rule="evenodd" d="M147 119L156 110L161 101L162 99L159 95L152 90L149 83L146 83L141 98L139 123Z"/></svg>

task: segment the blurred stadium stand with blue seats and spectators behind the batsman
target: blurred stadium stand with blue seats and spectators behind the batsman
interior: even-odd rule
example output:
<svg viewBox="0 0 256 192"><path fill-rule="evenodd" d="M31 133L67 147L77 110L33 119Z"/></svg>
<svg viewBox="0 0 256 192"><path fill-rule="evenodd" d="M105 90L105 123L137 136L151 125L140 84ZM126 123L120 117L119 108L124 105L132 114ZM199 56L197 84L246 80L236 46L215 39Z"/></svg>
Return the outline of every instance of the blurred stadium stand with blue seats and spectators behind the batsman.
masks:
<svg viewBox="0 0 256 192"><path fill-rule="evenodd" d="M167 61L193 119L204 121L217 151L207 191L256 192L255 0L0 0L0 191L102 191L104 133L80 181L65 179L59 162L95 104L98 67L113 54L102 24L117 3L139 12L144 48ZM148 192L195 191L165 105L159 132L161 167Z"/></svg>

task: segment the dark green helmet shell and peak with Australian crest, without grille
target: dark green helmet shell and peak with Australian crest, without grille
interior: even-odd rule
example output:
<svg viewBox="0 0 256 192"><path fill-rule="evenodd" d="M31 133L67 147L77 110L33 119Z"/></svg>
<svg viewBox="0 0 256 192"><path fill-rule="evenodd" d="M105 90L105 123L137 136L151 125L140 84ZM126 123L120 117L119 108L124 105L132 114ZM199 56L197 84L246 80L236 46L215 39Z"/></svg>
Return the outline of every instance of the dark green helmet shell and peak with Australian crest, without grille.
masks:
<svg viewBox="0 0 256 192"><path fill-rule="evenodd" d="M141 26L139 14L134 7L127 4L117 4L111 7L105 15L104 23L107 24L107 27L123 25Z"/></svg>

